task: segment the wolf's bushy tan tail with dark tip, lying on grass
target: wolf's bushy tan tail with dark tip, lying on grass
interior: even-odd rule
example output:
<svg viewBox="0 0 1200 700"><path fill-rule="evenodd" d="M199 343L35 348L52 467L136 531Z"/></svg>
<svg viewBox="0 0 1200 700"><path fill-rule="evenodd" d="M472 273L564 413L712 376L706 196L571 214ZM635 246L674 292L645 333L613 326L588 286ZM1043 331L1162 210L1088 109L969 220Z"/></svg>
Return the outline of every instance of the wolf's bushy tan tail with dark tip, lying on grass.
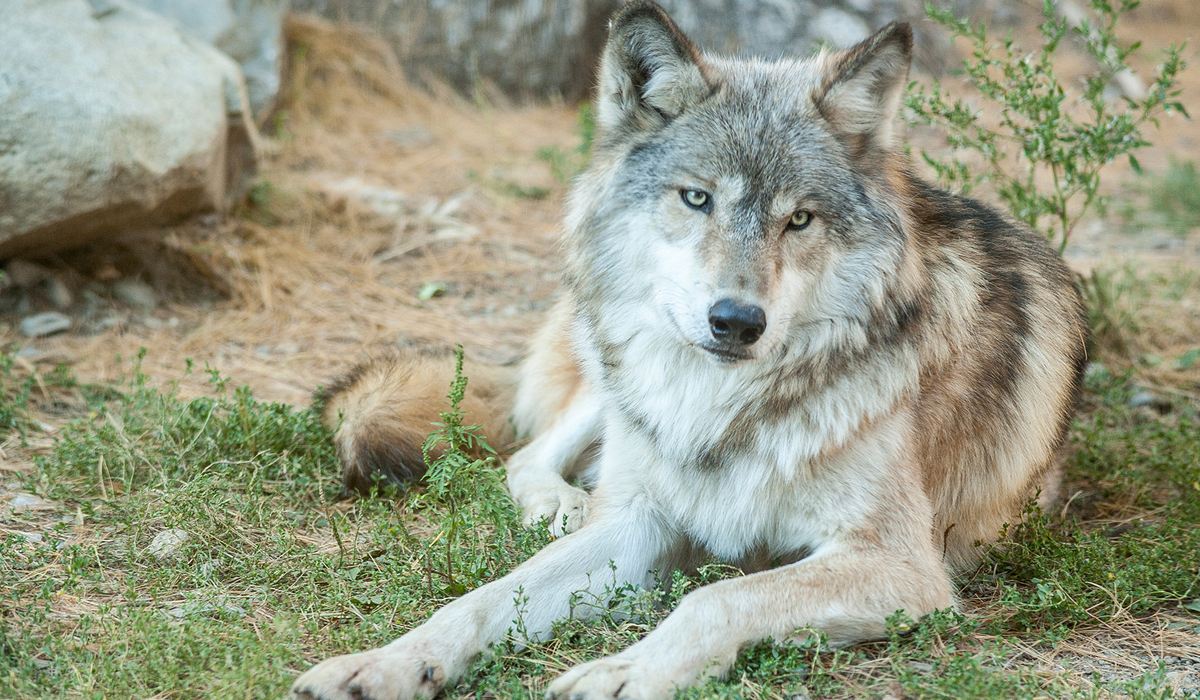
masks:
<svg viewBox="0 0 1200 700"><path fill-rule="evenodd" d="M390 353L350 370L318 396L322 420L334 431L348 490L367 491L378 479L421 478L421 445L438 413L449 407L454 355ZM511 441L508 409L511 371L467 360L463 423L479 425L497 448Z"/></svg>

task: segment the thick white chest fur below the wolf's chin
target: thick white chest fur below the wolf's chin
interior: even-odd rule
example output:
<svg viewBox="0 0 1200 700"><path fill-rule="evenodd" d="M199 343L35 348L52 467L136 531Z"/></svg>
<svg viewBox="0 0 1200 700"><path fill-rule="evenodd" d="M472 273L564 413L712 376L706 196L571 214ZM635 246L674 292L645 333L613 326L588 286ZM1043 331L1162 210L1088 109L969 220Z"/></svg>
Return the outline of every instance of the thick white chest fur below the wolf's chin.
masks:
<svg viewBox="0 0 1200 700"><path fill-rule="evenodd" d="M902 449L894 414L913 387L908 358L864 364L786 411L762 411L776 388L762 365L716 366L653 340L623 359L607 383L600 478L638 483L722 560L814 550L860 523Z"/></svg>

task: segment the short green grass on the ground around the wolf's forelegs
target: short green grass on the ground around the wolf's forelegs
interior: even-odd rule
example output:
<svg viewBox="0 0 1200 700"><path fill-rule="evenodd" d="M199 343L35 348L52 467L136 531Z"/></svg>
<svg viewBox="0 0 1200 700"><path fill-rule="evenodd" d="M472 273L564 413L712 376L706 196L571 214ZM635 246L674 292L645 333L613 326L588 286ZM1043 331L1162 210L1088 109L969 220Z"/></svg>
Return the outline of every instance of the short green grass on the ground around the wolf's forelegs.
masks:
<svg viewBox="0 0 1200 700"><path fill-rule="evenodd" d="M34 432L30 417L55 405L35 387L74 414L22 484L58 508L5 523L42 540L0 539L2 698L280 696L313 662L391 640L545 542L517 525L454 401L430 445L449 449L431 453L428 489L346 501L311 412L258 401L215 372L209 396L184 399L136 365L119 387L2 370L6 435ZM1066 519L1018 527L965 581L970 614L896 618L888 640L848 650L761 644L727 680L684 696L1169 696L1153 666L1106 682L1040 672L1021 651L1108 620L1187 616L1200 597L1200 417L1184 401L1147 415L1129 408L1132 390L1092 377L1068 479L1082 495ZM149 545L167 528L190 537L157 558ZM677 576L671 593L623 591L594 622L497 648L451 695L540 696L557 671L622 648L683 593L728 575L712 566Z"/></svg>

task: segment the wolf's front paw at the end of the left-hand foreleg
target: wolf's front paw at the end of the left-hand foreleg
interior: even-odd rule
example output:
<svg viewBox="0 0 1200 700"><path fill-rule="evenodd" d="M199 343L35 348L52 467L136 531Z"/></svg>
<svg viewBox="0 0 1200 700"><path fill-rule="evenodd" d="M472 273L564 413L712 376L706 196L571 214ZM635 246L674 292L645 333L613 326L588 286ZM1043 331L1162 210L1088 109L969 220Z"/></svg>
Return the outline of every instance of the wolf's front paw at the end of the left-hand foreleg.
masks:
<svg viewBox="0 0 1200 700"><path fill-rule="evenodd" d="M292 684L290 700L410 700L433 698L445 683L442 664L383 648L326 659Z"/></svg>

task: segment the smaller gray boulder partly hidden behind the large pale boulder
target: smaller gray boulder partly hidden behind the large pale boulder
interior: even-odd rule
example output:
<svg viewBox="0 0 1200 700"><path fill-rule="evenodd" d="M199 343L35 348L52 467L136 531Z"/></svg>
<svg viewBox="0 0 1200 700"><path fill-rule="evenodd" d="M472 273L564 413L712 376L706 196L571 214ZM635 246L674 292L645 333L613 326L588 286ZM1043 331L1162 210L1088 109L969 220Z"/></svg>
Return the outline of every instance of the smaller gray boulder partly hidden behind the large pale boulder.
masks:
<svg viewBox="0 0 1200 700"><path fill-rule="evenodd" d="M132 0L170 18L241 66L259 124L275 107L283 72L283 17L289 0Z"/></svg>

